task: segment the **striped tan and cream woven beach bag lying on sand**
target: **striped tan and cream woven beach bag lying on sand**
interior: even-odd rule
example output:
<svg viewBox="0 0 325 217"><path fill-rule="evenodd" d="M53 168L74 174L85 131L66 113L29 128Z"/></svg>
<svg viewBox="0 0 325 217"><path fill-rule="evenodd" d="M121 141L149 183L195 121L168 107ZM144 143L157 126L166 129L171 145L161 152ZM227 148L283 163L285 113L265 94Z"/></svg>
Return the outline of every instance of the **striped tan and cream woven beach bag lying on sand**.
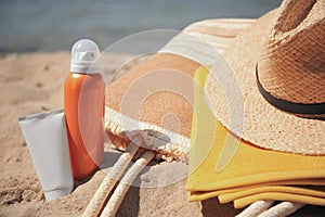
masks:
<svg viewBox="0 0 325 217"><path fill-rule="evenodd" d="M211 41L216 48L208 47L223 53L253 21L209 20L194 23L180 34L182 37L176 37L159 53L112 82L106 94L105 128L113 143L118 149L125 149L128 143L125 131L154 129L170 138L170 143L158 149L158 152L165 157L187 162L193 75L204 61L196 61L196 58L183 52L192 50L193 42L186 41L183 36ZM195 52L192 54L196 55Z"/></svg>

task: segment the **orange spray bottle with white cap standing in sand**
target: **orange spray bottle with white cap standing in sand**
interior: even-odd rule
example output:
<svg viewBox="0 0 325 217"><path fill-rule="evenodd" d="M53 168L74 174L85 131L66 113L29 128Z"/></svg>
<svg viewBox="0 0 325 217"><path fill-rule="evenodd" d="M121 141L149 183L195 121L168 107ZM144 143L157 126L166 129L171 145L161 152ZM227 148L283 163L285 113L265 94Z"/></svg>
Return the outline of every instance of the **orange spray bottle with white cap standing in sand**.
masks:
<svg viewBox="0 0 325 217"><path fill-rule="evenodd" d="M105 82L100 74L100 49L89 39L72 49L70 73L64 85L64 110L75 180L94 173L104 154Z"/></svg>

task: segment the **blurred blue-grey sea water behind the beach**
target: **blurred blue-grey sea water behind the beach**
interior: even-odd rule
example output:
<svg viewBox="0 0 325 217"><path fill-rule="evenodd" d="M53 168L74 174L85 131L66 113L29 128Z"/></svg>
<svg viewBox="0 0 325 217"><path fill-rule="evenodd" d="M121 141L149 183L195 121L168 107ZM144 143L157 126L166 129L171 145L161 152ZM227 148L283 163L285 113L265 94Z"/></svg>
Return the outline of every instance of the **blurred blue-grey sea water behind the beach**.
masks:
<svg viewBox="0 0 325 217"><path fill-rule="evenodd" d="M0 52L69 50L80 38L101 48L144 30L182 29L220 17L259 17L280 0L0 0Z"/></svg>

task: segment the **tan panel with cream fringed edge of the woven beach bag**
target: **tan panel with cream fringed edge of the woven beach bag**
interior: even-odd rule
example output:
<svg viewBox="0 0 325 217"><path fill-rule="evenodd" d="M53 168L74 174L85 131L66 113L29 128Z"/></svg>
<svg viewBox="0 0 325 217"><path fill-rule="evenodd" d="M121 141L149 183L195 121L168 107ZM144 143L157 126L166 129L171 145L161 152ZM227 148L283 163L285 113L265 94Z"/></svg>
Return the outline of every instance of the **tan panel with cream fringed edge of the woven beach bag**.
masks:
<svg viewBox="0 0 325 217"><path fill-rule="evenodd" d="M122 131L160 131L169 137L169 143L179 145L171 152L187 161L193 114L192 78L197 67L198 63L183 56L159 53L113 82L106 97L108 131L122 137L126 136Z"/></svg>

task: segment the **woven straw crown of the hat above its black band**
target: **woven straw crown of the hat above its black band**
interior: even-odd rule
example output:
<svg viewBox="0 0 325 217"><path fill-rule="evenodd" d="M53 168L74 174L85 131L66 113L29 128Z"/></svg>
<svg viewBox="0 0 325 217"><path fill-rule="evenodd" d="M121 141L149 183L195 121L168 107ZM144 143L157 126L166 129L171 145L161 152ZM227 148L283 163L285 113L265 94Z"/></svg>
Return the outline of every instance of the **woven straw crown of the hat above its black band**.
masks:
<svg viewBox="0 0 325 217"><path fill-rule="evenodd" d="M260 82L275 98L324 103L324 1L285 1L278 13L258 62Z"/></svg>

